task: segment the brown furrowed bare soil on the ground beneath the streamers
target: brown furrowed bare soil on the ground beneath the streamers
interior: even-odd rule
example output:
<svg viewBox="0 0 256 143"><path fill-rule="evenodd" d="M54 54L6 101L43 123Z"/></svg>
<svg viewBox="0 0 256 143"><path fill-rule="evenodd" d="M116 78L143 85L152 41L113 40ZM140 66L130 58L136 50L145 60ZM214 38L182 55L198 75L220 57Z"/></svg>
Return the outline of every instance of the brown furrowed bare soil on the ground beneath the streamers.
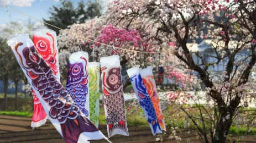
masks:
<svg viewBox="0 0 256 143"><path fill-rule="evenodd" d="M31 118L27 117L14 117L14 116L0 116L0 143L2 142L26 142L26 143L45 143L54 142L62 143L65 142L56 129L47 122L43 127L35 128L32 131L30 127ZM150 128L138 128L128 127L130 136L115 135L109 140L112 142L155 142L156 136L151 134ZM100 126L100 130L107 136L107 129L105 126ZM188 134L179 134L182 138L181 142L200 142ZM242 142L253 142L254 136L246 136ZM97 140L91 142L107 142L105 140ZM168 136L163 139L163 142L177 142L176 140L169 140Z"/></svg>

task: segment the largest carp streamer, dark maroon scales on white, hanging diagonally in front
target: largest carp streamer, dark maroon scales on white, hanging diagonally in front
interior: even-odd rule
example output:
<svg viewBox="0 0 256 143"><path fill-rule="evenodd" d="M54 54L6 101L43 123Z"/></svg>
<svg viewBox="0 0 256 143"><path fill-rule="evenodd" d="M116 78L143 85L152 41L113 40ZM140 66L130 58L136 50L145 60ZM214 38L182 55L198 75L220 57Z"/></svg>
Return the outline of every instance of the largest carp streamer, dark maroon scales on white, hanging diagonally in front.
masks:
<svg viewBox="0 0 256 143"><path fill-rule="evenodd" d="M79 108L74 105L53 70L38 54L28 34L13 36L7 43L48 118L65 142L107 139L89 119L80 116Z"/></svg>

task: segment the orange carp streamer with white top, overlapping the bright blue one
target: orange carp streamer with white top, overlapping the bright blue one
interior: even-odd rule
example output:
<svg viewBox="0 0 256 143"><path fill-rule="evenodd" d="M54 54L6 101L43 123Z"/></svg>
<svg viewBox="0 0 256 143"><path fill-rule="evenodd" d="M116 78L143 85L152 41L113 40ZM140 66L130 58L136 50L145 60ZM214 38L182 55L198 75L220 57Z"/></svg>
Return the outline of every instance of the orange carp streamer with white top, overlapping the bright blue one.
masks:
<svg viewBox="0 0 256 143"><path fill-rule="evenodd" d="M147 88L149 97L153 103L156 117L158 118L158 123L161 129L166 131L164 116L161 110L161 105L160 105L158 93L156 90L155 80L153 76L153 67L150 66L148 68L140 70L140 75L142 75L142 80Z"/></svg>

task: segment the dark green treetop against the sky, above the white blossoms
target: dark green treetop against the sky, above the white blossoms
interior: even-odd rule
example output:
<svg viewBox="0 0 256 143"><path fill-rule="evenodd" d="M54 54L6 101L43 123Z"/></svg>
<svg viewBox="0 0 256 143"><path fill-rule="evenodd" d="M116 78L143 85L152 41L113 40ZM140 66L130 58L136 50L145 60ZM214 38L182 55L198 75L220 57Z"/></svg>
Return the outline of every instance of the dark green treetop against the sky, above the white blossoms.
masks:
<svg viewBox="0 0 256 143"><path fill-rule="evenodd" d="M62 0L60 7L50 8L49 13L51 17L49 20L43 19L45 23L66 29L67 26L78 23L85 23L86 20L94 17L101 16L101 5L96 1L95 3L83 1L77 3L77 8L74 8L74 4L71 1ZM51 27L59 34L59 29Z"/></svg>

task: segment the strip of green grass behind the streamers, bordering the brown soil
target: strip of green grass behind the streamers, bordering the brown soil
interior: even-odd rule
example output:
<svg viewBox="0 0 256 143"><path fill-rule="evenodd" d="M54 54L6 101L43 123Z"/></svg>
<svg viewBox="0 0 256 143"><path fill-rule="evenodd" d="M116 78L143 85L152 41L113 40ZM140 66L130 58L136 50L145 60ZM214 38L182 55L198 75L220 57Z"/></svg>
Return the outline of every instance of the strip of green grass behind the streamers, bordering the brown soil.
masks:
<svg viewBox="0 0 256 143"><path fill-rule="evenodd" d="M32 97L27 98L18 98L18 111L14 111L15 109L15 99L12 98L12 95L8 95L8 108L6 111L3 111L4 100L0 98L0 114L2 115L9 115L9 116L22 116L22 117L32 117L33 116L33 101ZM132 107L128 110L129 103L126 102L126 114L127 114L127 125L129 127L149 127L147 119L140 116L140 109L135 110ZM173 119L168 118L169 114L171 113L171 108L168 108L164 111L165 116L165 124L168 128L172 127L174 121ZM196 114L196 113L195 113ZM100 107L100 116L99 116L99 123L100 125L106 125L106 118L105 118L105 111L103 106ZM170 124L172 123L172 124ZM183 128L184 122L183 119L175 121L175 127ZM191 127L189 127L191 128ZM170 130L169 130L170 131ZM237 135L256 135L256 128L251 128L248 132L245 127L239 127L233 125L229 130L229 134L237 134Z"/></svg>

